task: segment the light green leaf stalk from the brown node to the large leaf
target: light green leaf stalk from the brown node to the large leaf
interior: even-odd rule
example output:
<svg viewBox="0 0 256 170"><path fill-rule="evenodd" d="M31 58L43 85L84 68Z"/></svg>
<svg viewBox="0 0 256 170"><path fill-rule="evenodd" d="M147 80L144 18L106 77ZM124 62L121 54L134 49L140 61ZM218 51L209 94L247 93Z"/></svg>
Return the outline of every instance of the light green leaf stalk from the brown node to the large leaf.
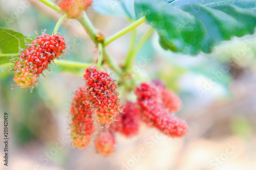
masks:
<svg viewBox="0 0 256 170"><path fill-rule="evenodd" d="M146 21L146 17L145 16L141 17L137 21L133 22L130 26L125 27L121 31L119 31L116 34L112 35L111 37L106 38L105 41L103 42L103 46L108 45L109 43L111 43L112 41L116 40L117 38L123 36L124 34L130 32L130 31L132 31L133 29L135 29L136 27L138 27L139 25L141 25L145 21Z"/></svg>

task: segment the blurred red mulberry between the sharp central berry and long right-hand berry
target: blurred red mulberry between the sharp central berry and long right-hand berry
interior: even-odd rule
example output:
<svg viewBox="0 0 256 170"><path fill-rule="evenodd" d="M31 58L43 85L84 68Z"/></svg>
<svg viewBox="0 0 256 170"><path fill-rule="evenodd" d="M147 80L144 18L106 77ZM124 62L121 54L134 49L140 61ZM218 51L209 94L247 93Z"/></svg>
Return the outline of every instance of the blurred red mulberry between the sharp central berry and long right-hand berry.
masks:
<svg viewBox="0 0 256 170"><path fill-rule="evenodd" d="M138 134L140 128L139 110L133 102L127 102L123 108L123 114L118 114L116 122L110 125L110 129L119 132L126 137Z"/></svg>

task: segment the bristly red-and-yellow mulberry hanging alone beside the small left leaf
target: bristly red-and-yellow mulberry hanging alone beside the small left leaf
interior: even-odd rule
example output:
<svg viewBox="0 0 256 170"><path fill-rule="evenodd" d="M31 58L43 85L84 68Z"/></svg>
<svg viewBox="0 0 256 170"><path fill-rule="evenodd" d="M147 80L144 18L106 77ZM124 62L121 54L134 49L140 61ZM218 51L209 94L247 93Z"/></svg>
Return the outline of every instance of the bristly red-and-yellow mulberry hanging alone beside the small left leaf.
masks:
<svg viewBox="0 0 256 170"><path fill-rule="evenodd" d="M65 50L64 38L60 35L48 35L43 33L37 36L31 44L27 44L26 50L19 54L18 61L14 64L14 78L16 86L26 88L33 84L37 85L37 77L45 69L50 70L48 65Z"/></svg>

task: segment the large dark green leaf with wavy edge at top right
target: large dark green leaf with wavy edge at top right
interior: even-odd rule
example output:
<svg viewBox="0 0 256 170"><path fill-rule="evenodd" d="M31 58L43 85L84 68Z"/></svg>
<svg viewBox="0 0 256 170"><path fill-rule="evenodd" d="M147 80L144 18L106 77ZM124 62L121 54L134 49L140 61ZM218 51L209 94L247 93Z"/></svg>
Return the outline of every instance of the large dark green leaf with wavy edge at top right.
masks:
<svg viewBox="0 0 256 170"><path fill-rule="evenodd" d="M135 11L156 28L165 50L197 55L211 53L220 41L254 33L256 1L242 2L136 0Z"/></svg>

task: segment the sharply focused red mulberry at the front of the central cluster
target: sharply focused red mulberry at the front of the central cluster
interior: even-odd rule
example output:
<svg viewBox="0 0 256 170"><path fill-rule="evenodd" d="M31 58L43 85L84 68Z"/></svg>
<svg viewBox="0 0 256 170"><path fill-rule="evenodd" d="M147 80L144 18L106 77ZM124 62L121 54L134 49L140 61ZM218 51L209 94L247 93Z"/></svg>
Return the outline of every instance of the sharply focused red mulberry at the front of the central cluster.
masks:
<svg viewBox="0 0 256 170"><path fill-rule="evenodd" d="M87 98L93 110L93 117L97 123L108 127L121 112L117 83L108 73L98 70L96 66L87 68L83 78L86 81Z"/></svg>

